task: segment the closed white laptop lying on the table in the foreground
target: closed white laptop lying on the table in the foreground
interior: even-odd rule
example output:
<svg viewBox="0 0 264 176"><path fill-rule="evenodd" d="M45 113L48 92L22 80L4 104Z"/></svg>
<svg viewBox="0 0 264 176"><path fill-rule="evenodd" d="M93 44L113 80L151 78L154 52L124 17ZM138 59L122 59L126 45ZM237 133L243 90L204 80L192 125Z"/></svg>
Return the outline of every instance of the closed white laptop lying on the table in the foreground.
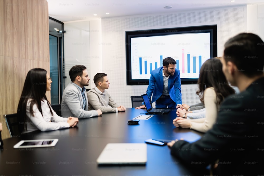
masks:
<svg viewBox="0 0 264 176"><path fill-rule="evenodd" d="M147 144L109 143L96 160L97 164L140 164L147 163Z"/></svg>

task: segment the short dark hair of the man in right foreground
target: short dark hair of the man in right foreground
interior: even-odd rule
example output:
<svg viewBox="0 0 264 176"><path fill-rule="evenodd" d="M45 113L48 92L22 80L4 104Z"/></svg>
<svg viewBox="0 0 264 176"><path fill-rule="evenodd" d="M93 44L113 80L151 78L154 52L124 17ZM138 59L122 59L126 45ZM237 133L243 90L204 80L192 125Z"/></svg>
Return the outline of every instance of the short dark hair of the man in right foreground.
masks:
<svg viewBox="0 0 264 176"><path fill-rule="evenodd" d="M234 63L247 77L263 75L264 43L255 34L242 33L225 43L224 59Z"/></svg>

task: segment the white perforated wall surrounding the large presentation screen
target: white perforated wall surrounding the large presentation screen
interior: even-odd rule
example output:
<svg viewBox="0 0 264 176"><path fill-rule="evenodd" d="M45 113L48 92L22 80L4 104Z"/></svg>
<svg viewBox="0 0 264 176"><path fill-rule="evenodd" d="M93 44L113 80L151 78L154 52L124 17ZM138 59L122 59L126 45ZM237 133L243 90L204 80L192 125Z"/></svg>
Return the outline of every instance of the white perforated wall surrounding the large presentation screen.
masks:
<svg viewBox="0 0 264 176"><path fill-rule="evenodd" d="M126 85L125 31L216 24L218 56L221 56L224 43L246 31L246 10L246 6L237 6L174 14L103 18L102 71L108 74L110 81L110 88L107 91L117 103L131 107L130 96L140 96L147 90L147 85ZM182 85L181 89L183 103L192 105L200 102L196 94L196 84Z"/></svg>

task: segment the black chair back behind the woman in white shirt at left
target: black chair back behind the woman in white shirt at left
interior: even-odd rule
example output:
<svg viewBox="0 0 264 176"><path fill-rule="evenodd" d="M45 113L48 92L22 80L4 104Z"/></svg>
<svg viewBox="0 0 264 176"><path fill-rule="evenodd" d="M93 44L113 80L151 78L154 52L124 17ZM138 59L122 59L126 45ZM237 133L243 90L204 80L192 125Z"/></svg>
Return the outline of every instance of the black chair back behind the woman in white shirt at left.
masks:
<svg viewBox="0 0 264 176"><path fill-rule="evenodd" d="M10 136L18 136L21 133L18 130L18 118L17 118L17 113L14 114L5 114L3 116L6 119L6 125L8 128L8 131L10 133Z"/></svg>

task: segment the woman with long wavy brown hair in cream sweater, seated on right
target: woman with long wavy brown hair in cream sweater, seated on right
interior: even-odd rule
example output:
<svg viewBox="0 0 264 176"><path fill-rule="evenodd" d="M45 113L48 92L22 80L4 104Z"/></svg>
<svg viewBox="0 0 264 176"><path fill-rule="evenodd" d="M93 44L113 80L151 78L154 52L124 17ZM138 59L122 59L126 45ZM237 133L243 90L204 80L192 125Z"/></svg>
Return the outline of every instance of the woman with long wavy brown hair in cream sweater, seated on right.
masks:
<svg viewBox="0 0 264 176"><path fill-rule="evenodd" d="M229 86L222 71L219 59L208 59L202 64L198 79L199 90L196 92L206 108L205 118L186 119L186 110L178 109L173 124L176 127L190 128L200 132L211 129L216 122L220 103L225 97L234 94L235 91Z"/></svg>

